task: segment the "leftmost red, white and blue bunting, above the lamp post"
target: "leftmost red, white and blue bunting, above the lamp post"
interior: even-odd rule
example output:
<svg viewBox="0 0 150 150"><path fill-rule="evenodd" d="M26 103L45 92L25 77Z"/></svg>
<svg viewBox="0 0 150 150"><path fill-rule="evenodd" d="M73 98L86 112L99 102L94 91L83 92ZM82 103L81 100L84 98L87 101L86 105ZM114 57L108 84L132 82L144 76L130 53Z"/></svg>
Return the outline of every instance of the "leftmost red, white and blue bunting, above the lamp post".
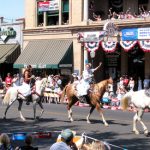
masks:
<svg viewBox="0 0 150 150"><path fill-rule="evenodd" d="M95 52L99 48L99 42L84 43L84 46L89 52Z"/></svg>

